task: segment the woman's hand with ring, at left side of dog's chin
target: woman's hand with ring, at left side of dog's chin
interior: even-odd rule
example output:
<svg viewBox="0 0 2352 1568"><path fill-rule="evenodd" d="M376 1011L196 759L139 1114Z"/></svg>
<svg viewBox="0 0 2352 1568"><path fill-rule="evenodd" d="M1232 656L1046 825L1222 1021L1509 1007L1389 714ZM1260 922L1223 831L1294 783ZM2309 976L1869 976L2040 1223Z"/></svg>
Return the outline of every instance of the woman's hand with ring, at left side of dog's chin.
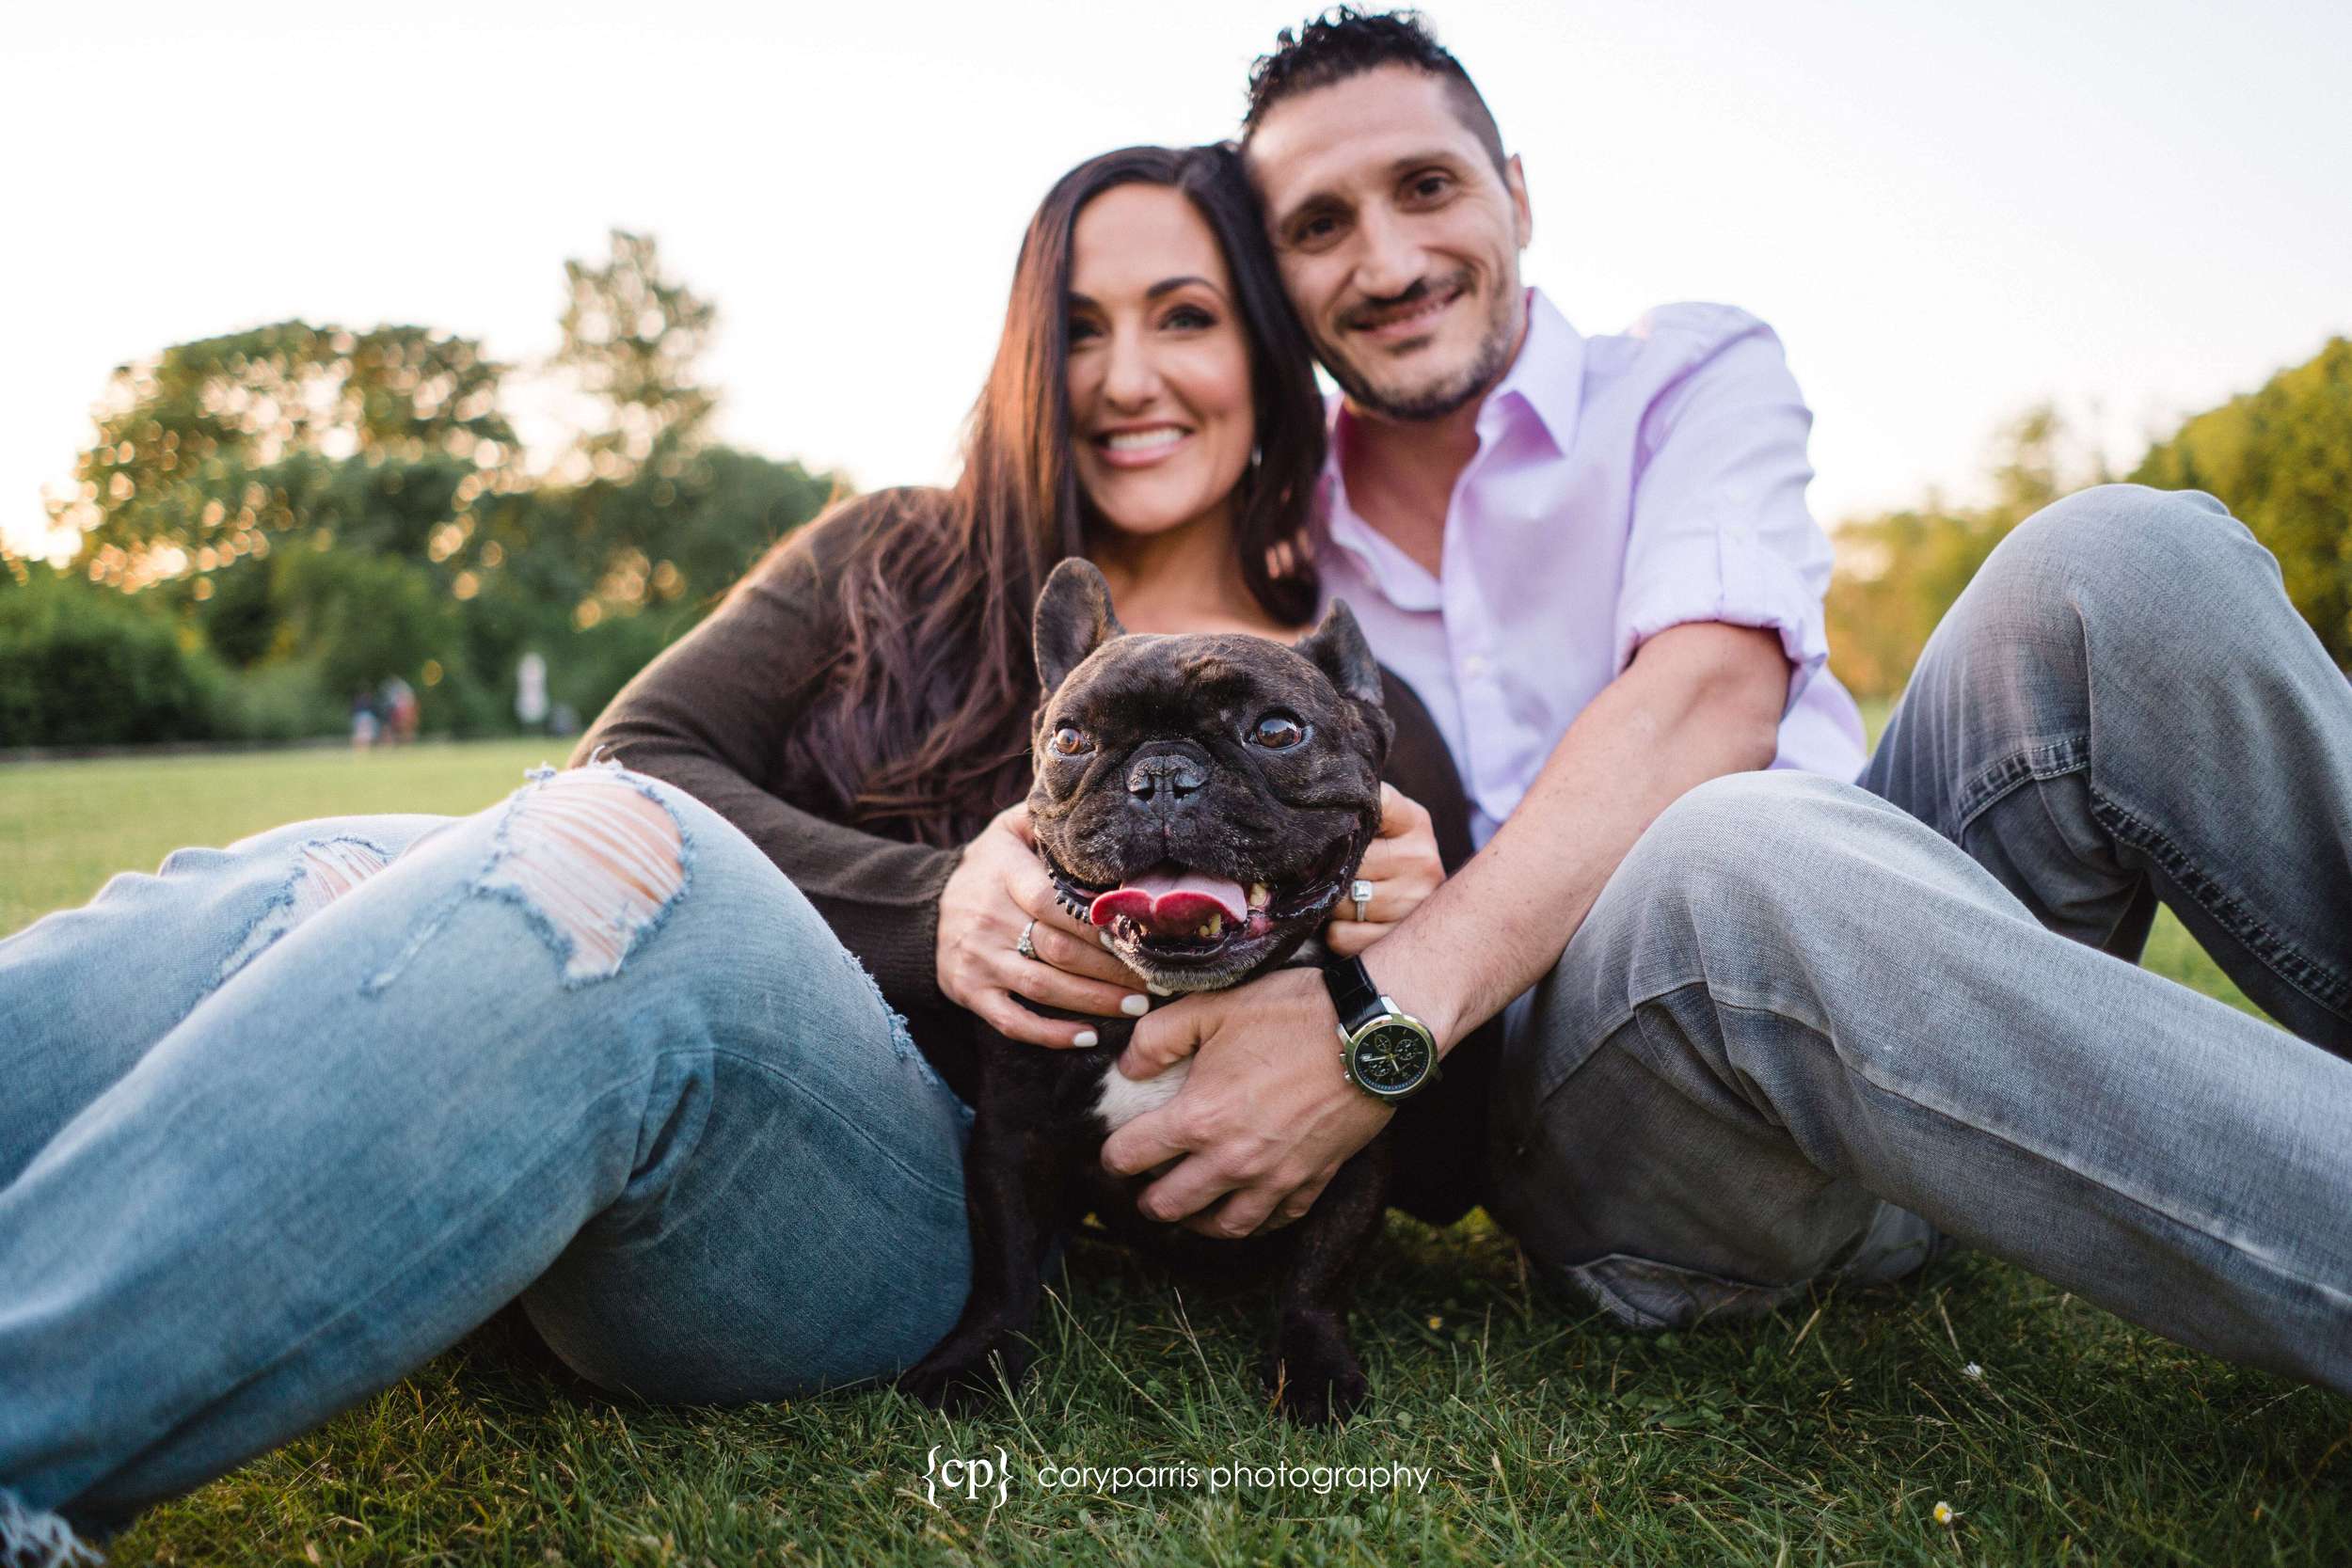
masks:
<svg viewBox="0 0 2352 1568"><path fill-rule="evenodd" d="M1030 919L1037 957L1023 959L1016 947ZM1025 804L1000 811L964 846L962 865L938 893L938 990L1007 1039L1033 1046L1091 1046L1096 1032L1042 1018L1014 997L1098 1018L1150 1009L1136 971L1110 957L1094 926L1054 903Z"/></svg>

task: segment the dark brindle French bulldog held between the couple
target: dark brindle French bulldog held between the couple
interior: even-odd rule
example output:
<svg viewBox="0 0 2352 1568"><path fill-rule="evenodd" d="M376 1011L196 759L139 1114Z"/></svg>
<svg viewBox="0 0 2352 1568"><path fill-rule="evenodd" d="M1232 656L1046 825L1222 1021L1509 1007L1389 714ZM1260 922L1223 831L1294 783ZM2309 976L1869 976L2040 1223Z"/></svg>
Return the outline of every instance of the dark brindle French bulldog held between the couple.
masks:
<svg viewBox="0 0 2352 1568"><path fill-rule="evenodd" d="M1061 903L1108 936L1157 992L1237 985L1317 961L1315 933L1381 825L1390 719L1381 670L1345 604L1298 644L1249 635L1129 635L1089 562L1065 559L1037 597L1028 797ZM1150 1182L1101 1164L1103 1140L1185 1081L1112 1065L1134 1020L1091 1020L1101 1046L1049 1051L981 1027L964 1150L971 1298L931 1354L898 1378L924 1403L969 1410L1016 1387L1056 1237L1103 1225L1207 1272L1282 1269L1279 1326L1261 1373L1298 1422L1345 1418L1369 1385L1348 1347L1348 1284L1381 1225L1383 1131L1287 1227L1216 1239L1145 1220ZM1296 1041L1341 1072L1338 1037Z"/></svg>

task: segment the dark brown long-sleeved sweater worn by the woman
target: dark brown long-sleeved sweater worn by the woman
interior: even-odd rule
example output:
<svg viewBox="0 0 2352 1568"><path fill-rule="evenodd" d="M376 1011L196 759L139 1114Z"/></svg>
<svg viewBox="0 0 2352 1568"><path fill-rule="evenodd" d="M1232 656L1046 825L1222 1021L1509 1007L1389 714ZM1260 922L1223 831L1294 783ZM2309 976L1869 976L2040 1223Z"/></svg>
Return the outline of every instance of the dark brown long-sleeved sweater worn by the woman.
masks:
<svg viewBox="0 0 2352 1568"><path fill-rule="evenodd" d="M844 646L835 592L842 559L877 512L842 505L769 552L717 611L628 682L581 736L572 762L607 748L741 827L866 964L948 1086L974 1100L976 1020L941 994L936 969L938 893L962 851L830 820L809 806L821 797L807 780L783 769L783 741ZM1383 682L1397 726L1385 778L1430 811L1451 872L1470 856L1470 809L1454 759L1421 698L1385 670ZM1397 1112L1399 1175L1390 1201L1432 1222L1449 1222L1477 1201L1484 1091L1501 1044L1491 1030L1482 1034L1489 1037L1461 1041L1446 1056L1444 1079Z"/></svg>

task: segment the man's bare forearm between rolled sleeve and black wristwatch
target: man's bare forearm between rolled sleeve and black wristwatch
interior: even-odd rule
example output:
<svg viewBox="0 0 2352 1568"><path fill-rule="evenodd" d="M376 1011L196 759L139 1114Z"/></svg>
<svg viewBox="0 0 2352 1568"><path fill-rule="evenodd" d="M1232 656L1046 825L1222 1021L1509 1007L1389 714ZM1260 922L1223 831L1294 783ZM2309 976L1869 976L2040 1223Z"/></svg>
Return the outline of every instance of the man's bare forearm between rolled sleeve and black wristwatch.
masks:
<svg viewBox="0 0 2352 1568"><path fill-rule="evenodd" d="M1451 1048L1543 978L1661 811L1771 764L1785 693L1771 632L1700 623L1651 637L1494 839L1364 954L1374 980Z"/></svg>

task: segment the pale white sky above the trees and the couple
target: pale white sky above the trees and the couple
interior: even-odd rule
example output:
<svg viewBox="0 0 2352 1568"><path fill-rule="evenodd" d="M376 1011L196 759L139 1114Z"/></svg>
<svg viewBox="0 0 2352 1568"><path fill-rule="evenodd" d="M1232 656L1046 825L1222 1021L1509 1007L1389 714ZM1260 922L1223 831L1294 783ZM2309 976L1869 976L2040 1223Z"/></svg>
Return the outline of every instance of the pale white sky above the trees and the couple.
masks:
<svg viewBox="0 0 2352 1568"><path fill-rule="evenodd" d="M727 440L941 480L1033 205L1235 129L1305 5L9 7L0 527L122 360L282 317L553 348L562 259L661 237ZM2039 397L2117 461L2352 334L2352 7L1432 0L1583 331L1719 299L1813 409L1825 520L1969 494Z"/></svg>

